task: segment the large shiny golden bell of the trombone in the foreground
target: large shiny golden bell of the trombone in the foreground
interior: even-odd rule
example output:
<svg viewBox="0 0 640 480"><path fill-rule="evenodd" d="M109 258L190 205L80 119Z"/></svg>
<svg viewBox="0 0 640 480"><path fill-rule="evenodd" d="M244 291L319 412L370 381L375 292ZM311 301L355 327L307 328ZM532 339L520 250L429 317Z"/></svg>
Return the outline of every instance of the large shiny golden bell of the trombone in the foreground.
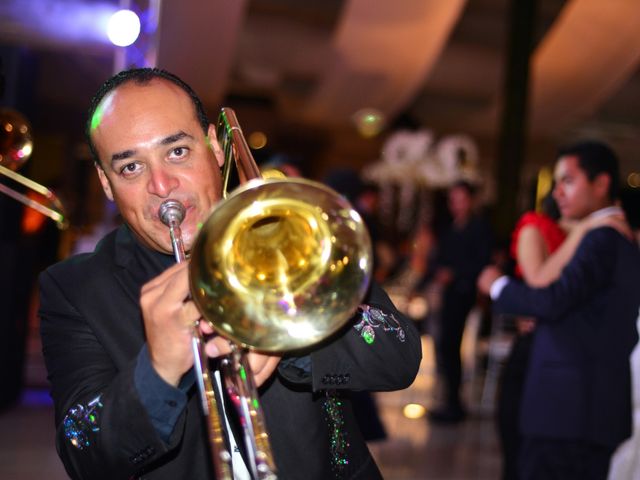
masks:
<svg viewBox="0 0 640 480"><path fill-rule="evenodd" d="M369 233L343 197L302 178L257 178L205 221L191 249L191 292L221 335L285 352L349 320L371 263Z"/></svg>

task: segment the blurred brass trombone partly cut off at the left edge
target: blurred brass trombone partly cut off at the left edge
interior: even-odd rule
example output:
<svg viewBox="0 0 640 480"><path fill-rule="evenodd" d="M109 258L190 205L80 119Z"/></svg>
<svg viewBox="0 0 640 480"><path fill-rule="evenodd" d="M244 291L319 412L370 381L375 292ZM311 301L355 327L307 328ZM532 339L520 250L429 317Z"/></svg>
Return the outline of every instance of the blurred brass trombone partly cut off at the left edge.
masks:
<svg viewBox="0 0 640 480"><path fill-rule="evenodd" d="M60 230L65 230L69 220L58 197L44 185L15 171L27 161L32 150L31 127L27 120L14 110L0 109L0 175L42 195L44 202L38 202L3 183L0 183L0 192L51 218Z"/></svg>

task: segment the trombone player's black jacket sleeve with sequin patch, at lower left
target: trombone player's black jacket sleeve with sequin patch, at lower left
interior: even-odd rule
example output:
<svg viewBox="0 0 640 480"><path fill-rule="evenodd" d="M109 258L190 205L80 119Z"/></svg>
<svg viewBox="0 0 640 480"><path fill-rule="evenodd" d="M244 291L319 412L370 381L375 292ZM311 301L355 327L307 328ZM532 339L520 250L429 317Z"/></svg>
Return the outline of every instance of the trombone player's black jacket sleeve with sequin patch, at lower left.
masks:
<svg viewBox="0 0 640 480"><path fill-rule="evenodd" d="M140 475L178 443L184 412L165 444L140 402L136 357L116 368L70 297L51 273L40 276L40 328L58 454L74 479Z"/></svg>

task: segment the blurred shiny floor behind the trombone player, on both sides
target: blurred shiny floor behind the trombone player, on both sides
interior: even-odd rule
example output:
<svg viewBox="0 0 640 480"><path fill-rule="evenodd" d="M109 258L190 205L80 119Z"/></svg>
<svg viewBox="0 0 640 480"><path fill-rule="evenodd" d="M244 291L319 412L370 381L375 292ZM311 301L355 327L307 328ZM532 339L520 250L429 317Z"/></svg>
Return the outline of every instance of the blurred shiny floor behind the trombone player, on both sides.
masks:
<svg viewBox="0 0 640 480"><path fill-rule="evenodd" d="M30 338L26 384L19 405L0 413L0 479L62 480L67 476L54 447L53 407L47 394L37 335ZM370 445L389 480L497 480L500 455L490 416L474 413L453 426L430 425L404 417L408 403L429 406L433 397L433 351L423 337L423 362L414 384L376 395L388 439ZM467 398L474 396L468 388Z"/></svg>

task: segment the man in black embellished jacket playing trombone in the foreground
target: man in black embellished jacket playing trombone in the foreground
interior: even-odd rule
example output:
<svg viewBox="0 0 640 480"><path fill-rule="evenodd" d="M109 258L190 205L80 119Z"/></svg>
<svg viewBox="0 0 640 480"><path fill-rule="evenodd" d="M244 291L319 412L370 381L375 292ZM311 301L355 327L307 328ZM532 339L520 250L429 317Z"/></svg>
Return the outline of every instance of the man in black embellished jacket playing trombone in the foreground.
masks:
<svg viewBox="0 0 640 480"><path fill-rule="evenodd" d="M58 452L73 478L212 479L192 368L200 313L189 299L188 262L173 264L158 207L168 198L184 204L189 251L221 194L224 156L215 128L180 79L138 69L98 92L88 140L105 194L125 224L95 252L40 278ZM199 328L211 333L206 322ZM215 336L206 352L226 354L229 342ZM421 357L416 329L372 285L345 328L295 355L249 358L279 477L379 478L340 392L407 387ZM249 478L246 451L238 447L230 448L234 478Z"/></svg>

